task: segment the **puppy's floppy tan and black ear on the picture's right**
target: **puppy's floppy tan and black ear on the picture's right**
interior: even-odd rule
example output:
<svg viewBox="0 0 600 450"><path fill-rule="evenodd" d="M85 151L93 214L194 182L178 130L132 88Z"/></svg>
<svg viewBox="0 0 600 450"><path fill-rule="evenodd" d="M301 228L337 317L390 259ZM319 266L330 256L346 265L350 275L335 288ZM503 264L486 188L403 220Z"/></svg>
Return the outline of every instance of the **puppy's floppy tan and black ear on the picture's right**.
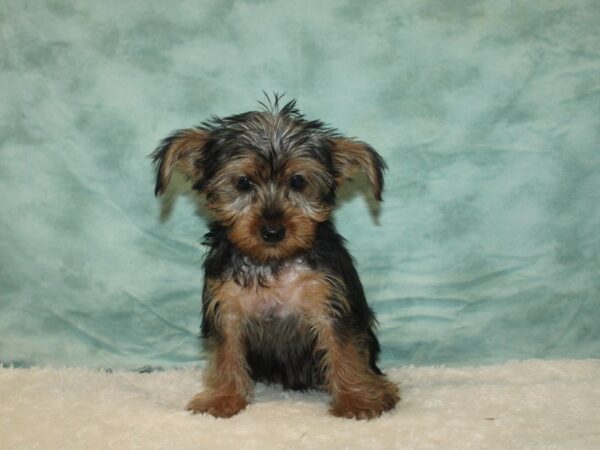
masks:
<svg viewBox="0 0 600 450"><path fill-rule="evenodd" d="M350 178L362 169L371 183L373 195L381 201L383 172L386 169L383 158L370 145L353 139L339 138L331 141L331 155L336 169L336 183Z"/></svg>

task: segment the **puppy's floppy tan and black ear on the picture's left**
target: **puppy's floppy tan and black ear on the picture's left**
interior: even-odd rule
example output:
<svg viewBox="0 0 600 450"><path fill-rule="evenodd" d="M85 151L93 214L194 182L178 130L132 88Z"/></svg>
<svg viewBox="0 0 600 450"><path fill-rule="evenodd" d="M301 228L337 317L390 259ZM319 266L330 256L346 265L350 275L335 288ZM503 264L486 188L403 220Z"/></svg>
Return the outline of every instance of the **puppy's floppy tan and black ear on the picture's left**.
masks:
<svg viewBox="0 0 600 450"><path fill-rule="evenodd" d="M209 140L209 133L199 128L179 130L164 139L152 153L156 170L155 195L161 195L177 168L192 183L202 178L202 152Z"/></svg>

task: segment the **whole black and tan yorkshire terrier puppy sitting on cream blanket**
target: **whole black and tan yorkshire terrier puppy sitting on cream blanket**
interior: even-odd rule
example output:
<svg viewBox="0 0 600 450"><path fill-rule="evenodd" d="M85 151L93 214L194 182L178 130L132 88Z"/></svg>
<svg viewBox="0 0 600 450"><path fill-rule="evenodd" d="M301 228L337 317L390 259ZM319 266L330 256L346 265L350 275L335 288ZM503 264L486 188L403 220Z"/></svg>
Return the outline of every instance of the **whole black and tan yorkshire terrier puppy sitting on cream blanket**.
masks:
<svg viewBox="0 0 600 450"><path fill-rule="evenodd" d="M261 381L324 389L335 416L378 417L399 391L377 367L375 317L330 216L357 170L381 200L385 163L295 101L262 106L176 131L152 155L156 195L177 168L214 215L202 301L211 360L187 408L233 416Z"/></svg>

